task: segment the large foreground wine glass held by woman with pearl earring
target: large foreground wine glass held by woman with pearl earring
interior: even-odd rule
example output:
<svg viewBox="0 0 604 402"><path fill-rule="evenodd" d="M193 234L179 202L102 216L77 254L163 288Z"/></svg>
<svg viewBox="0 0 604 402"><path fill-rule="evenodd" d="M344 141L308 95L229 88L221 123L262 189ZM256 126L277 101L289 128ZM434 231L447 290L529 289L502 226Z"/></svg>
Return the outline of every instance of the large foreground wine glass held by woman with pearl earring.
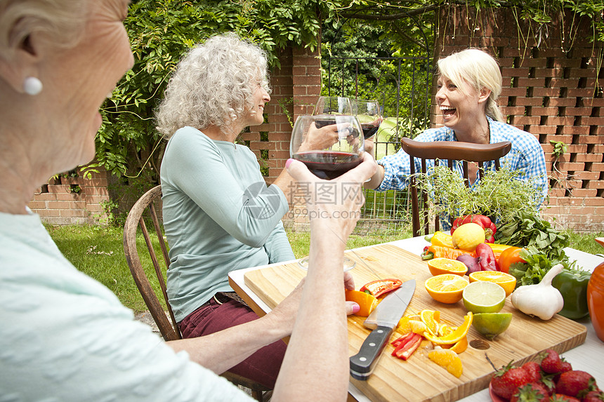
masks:
<svg viewBox="0 0 604 402"><path fill-rule="evenodd" d="M352 115L300 116L291 132L289 154L317 177L331 180L361 163L365 144L361 133L360 123ZM348 257L343 258L344 271L353 269L355 264ZM298 266L308 269L308 257L298 260Z"/></svg>

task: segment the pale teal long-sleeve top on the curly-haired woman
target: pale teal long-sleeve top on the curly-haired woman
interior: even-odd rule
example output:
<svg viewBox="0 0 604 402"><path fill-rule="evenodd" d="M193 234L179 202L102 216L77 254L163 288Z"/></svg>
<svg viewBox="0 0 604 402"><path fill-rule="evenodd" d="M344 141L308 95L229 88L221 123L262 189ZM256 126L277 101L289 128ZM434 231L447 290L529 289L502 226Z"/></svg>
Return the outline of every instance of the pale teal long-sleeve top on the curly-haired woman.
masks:
<svg viewBox="0 0 604 402"><path fill-rule="evenodd" d="M281 222L287 199L265 185L248 147L180 128L166 145L160 178L176 321L214 293L232 291L228 272L294 259Z"/></svg>

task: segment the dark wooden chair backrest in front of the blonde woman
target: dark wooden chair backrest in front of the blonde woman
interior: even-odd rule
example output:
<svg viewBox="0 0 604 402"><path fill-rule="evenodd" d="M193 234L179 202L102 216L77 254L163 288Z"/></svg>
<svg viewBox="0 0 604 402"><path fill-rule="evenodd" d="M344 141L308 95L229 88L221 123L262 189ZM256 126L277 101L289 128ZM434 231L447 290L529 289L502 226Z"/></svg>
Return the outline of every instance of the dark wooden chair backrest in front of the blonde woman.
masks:
<svg viewBox="0 0 604 402"><path fill-rule="evenodd" d="M512 143L509 141L497 142L495 144L474 144L473 142L459 142L459 141L433 141L433 142L421 142L411 140L409 138L402 138L400 140L402 149L409 154L409 162L411 166L411 176L409 177L409 189L411 190L411 208L412 208L412 226L413 235L420 236L421 229L424 229L424 234L429 232L428 214L422 214L422 223L420 225L420 206L419 199L417 196L418 186L415 180L415 163L414 158L421 159L421 173L426 173L426 160L434 159L436 164L442 161L447 161L447 166L450 169L453 168L454 161L462 161L462 170L464 173L464 181L466 186L469 187L469 170L468 162L478 163L478 175L482 177L484 170L482 170L483 163L487 161L494 161L495 169L500 168L499 158L505 156L512 149ZM418 172L419 173L419 172ZM427 210L428 208L428 194L421 191L421 208ZM434 222L435 230L440 227L439 217L435 217Z"/></svg>

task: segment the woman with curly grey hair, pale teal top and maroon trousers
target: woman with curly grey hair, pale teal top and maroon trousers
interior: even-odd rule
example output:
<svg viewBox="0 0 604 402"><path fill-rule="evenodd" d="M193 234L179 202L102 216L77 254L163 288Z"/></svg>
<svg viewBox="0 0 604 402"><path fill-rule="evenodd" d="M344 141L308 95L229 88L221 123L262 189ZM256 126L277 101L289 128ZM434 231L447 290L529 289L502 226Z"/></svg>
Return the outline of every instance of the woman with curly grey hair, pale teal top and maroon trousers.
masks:
<svg viewBox="0 0 604 402"><path fill-rule="evenodd" d="M185 338L258 319L230 287L230 271L295 258L281 218L296 181L283 170L267 187L254 152L236 143L244 128L263 123L266 69L258 46L213 36L180 61L157 111L169 139L160 170L167 289ZM337 135L336 126L321 130ZM272 388L285 349L279 340L230 371Z"/></svg>

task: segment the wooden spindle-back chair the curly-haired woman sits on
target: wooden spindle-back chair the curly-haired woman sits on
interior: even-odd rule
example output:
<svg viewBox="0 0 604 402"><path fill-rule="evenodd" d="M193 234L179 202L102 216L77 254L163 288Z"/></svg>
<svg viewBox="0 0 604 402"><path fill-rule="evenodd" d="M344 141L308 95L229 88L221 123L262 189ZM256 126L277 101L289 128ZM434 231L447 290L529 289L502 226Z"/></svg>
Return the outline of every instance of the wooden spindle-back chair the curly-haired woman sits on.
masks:
<svg viewBox="0 0 604 402"><path fill-rule="evenodd" d="M145 213L145 210L148 209L153 222L153 227L155 228L155 233L159 239L159 246L162 249L164 264L167 270L170 267L168 249L166 247L166 242L164 241L162 226L159 223L159 219L157 218L157 213L155 211L155 205L161 198L162 187L156 186L143 194L143 196L136 201L128 214L126 225L124 225L124 253L126 254L126 261L130 267L130 272L134 282L140 291L140 295L143 296L143 300L145 300L145 304L147 304L147 308L155 320L155 323L159 328L159 332L162 333L162 337L164 337L164 340L168 341L181 339L182 335L180 335L178 324L176 323L176 319L174 318L174 314L168 302L164 274L162 273L162 268L157 260L155 249L152 246L149 232L147 232L147 225L145 225L145 220L143 219L143 213ZM138 227L140 227L141 232L143 232L143 237L145 239L145 243L147 244L147 250L151 256L155 274L159 281L159 286L162 288L162 294L164 295L170 320L166 316L162 304L157 298L155 290L153 290L151 287L147 274L145 274L145 270L143 269L143 264L141 264L140 258L138 257L138 249L136 248L136 232ZM230 373L227 371L223 373L222 376L235 385L241 385L242 387L250 389L251 395L256 398L257 401L263 401L263 393L270 391L269 388L264 387L262 384L258 384L257 382L251 381L235 373Z"/></svg>

